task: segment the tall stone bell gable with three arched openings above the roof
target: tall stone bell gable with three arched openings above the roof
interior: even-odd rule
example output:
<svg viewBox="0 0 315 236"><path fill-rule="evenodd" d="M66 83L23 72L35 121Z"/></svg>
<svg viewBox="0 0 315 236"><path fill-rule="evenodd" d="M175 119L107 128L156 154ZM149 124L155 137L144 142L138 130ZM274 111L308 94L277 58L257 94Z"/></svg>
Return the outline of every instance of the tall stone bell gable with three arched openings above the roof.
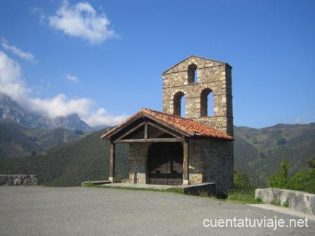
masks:
<svg viewBox="0 0 315 236"><path fill-rule="evenodd" d="M188 67L197 66L197 82L190 83ZM163 78L163 112L178 114L179 97L186 95L186 118L206 123L233 136L232 67L224 62L188 57L165 71ZM204 116L202 91L214 95L214 115Z"/></svg>

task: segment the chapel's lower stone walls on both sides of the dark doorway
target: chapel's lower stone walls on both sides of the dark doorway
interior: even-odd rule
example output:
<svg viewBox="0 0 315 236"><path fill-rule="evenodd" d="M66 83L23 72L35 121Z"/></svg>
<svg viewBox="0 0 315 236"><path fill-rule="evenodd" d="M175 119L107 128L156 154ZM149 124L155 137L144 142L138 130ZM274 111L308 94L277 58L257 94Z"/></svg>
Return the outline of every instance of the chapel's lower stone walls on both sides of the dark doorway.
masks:
<svg viewBox="0 0 315 236"><path fill-rule="evenodd" d="M146 183L147 153L151 144L130 144L130 183ZM233 144L215 139L190 139L190 184L216 183L226 193L233 183Z"/></svg>

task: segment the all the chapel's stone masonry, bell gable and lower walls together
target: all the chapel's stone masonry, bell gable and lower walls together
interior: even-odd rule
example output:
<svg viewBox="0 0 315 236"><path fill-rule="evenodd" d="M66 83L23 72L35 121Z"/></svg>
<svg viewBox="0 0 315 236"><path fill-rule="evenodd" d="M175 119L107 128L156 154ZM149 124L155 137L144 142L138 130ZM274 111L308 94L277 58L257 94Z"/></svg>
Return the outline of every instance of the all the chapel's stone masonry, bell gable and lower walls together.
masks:
<svg viewBox="0 0 315 236"><path fill-rule="evenodd" d="M196 76L197 70L197 76ZM186 118L233 135L232 67L224 62L191 56L163 73L163 112L181 114L186 95ZM197 78L196 78L197 77ZM208 116L207 97L214 95L214 116ZM130 144L130 183L148 183L150 143ZM189 183L214 183L217 193L233 184L233 142L207 137L188 140Z"/></svg>

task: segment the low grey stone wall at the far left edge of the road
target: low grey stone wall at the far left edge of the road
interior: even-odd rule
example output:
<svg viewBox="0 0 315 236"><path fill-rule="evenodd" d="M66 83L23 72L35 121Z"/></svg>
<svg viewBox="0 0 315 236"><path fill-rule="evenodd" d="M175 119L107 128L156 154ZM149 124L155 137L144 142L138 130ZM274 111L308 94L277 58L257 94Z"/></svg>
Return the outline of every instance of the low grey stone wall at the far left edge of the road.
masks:
<svg viewBox="0 0 315 236"><path fill-rule="evenodd" d="M36 185L35 175L27 174L3 174L0 175L0 186Z"/></svg>

